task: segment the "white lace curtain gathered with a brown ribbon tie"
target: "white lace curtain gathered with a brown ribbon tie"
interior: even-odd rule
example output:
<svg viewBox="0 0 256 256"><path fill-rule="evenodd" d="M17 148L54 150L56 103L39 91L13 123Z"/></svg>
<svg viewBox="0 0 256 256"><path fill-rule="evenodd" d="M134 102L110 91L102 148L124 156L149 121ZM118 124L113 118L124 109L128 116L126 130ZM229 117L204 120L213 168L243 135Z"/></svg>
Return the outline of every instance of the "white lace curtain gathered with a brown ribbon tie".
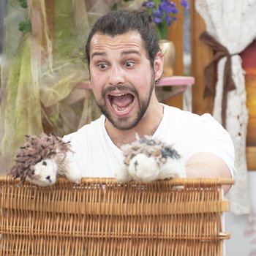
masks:
<svg viewBox="0 0 256 256"><path fill-rule="evenodd" d="M206 42L214 45L214 50L220 56L213 115L225 125L236 151L236 184L228 194L230 210L235 214L249 214L246 165L248 111L244 70L238 53L256 38L256 0L196 0L195 7L206 23L208 38L219 44ZM230 76L226 69L229 69Z"/></svg>

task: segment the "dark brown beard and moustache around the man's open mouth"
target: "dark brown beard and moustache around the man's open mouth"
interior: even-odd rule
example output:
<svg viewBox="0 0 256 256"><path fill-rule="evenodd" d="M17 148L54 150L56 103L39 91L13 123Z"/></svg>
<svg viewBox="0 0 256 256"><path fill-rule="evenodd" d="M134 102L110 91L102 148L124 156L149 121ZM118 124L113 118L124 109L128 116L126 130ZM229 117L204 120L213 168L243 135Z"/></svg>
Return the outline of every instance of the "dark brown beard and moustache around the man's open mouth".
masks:
<svg viewBox="0 0 256 256"><path fill-rule="evenodd" d="M138 125L140 120L145 115L146 110L148 109L148 105L149 105L150 100L151 100L151 95L152 95L152 92L154 90L154 86L155 86L154 74L152 74L151 75L151 82L149 84L148 93L146 94L146 97L143 98L143 99L141 99L139 97L138 91L134 87L125 86L125 85L111 86L111 87L108 87L107 89L102 91L102 99L97 101L97 105L99 107L99 110L102 112L102 114L108 119L108 121L110 121L111 124L113 124L113 127L116 127L117 129L121 129L121 130L132 129L132 128L134 128ZM129 120L129 117L127 117L127 116L114 118L111 115L110 111L108 110L105 97L106 97L106 94L108 92L114 91L115 89L131 91L132 94L134 94L135 97L137 97L137 99L138 99L138 111L135 115L135 118L133 118L132 120Z"/></svg>

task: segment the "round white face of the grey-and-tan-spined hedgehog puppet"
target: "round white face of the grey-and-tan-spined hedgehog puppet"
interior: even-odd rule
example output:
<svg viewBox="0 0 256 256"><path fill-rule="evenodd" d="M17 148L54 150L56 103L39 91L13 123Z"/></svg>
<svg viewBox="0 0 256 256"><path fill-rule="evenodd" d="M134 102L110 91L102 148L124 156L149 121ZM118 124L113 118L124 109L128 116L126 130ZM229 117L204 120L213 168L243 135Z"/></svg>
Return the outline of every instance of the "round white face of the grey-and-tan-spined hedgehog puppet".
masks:
<svg viewBox="0 0 256 256"><path fill-rule="evenodd" d="M128 171L135 181L154 181L159 176L159 166L154 157L137 154L129 162Z"/></svg>

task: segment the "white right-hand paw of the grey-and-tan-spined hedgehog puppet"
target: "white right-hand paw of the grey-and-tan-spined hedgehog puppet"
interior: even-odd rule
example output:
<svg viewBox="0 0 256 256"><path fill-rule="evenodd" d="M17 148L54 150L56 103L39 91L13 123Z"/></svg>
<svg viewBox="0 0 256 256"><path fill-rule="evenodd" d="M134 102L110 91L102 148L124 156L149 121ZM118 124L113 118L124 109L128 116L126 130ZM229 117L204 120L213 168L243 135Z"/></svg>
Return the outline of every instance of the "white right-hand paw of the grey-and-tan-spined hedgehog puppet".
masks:
<svg viewBox="0 0 256 256"><path fill-rule="evenodd" d="M159 173L159 179L165 178L185 178L185 166L183 159L167 159L167 162L162 165L161 173Z"/></svg>

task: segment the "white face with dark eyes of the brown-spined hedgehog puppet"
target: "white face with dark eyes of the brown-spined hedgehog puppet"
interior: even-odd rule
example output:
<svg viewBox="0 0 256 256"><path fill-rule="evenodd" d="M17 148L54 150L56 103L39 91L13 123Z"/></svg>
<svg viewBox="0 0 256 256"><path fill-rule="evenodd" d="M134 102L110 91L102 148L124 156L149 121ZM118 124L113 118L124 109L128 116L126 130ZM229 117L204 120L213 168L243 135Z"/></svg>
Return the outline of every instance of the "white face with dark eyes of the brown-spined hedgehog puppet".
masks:
<svg viewBox="0 0 256 256"><path fill-rule="evenodd" d="M55 160L44 159L34 165L33 178L26 176L26 180L40 187L52 186L56 183L57 171L58 165Z"/></svg>

